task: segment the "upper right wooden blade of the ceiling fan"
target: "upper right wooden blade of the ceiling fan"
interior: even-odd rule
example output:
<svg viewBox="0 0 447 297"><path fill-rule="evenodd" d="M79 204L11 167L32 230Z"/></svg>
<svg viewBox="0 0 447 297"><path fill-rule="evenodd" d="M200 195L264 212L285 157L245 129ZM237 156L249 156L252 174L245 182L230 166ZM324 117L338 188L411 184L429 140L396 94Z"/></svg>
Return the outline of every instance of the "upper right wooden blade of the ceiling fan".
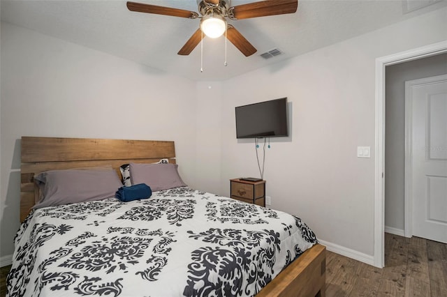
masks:
<svg viewBox="0 0 447 297"><path fill-rule="evenodd" d="M231 10L232 8L230 8ZM247 3L233 7L235 20L248 19L250 17L266 17L268 15L284 15L295 13L298 9L298 0L268 0Z"/></svg>

